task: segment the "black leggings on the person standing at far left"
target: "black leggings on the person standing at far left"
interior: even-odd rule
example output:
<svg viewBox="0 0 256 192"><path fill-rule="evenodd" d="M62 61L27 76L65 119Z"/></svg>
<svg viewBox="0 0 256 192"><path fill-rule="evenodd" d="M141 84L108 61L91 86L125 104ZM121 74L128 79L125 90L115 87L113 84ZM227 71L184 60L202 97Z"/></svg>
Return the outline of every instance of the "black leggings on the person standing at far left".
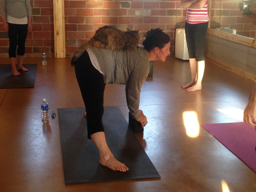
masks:
<svg viewBox="0 0 256 192"><path fill-rule="evenodd" d="M25 54L25 42L28 33L28 24L10 24L9 26L9 57L16 57L16 48L17 55L24 55Z"/></svg>

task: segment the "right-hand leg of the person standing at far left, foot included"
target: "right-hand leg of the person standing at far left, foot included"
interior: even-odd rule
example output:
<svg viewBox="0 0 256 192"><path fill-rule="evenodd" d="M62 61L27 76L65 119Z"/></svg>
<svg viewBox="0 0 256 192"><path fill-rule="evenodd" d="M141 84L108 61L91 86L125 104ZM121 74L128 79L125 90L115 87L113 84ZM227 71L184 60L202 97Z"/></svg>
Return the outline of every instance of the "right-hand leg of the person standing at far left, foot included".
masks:
<svg viewBox="0 0 256 192"><path fill-rule="evenodd" d="M25 54L25 42L28 34L28 24L18 26L18 70L28 71L28 69L23 67L23 56Z"/></svg>

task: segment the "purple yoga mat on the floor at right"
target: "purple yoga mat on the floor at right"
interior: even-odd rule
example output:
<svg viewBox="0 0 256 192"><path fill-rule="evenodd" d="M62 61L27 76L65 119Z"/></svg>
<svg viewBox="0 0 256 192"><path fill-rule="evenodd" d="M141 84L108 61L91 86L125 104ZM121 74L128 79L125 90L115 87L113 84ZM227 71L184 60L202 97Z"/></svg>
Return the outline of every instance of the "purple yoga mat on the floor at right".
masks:
<svg viewBox="0 0 256 192"><path fill-rule="evenodd" d="M256 131L245 122L202 124L230 152L256 173Z"/></svg>

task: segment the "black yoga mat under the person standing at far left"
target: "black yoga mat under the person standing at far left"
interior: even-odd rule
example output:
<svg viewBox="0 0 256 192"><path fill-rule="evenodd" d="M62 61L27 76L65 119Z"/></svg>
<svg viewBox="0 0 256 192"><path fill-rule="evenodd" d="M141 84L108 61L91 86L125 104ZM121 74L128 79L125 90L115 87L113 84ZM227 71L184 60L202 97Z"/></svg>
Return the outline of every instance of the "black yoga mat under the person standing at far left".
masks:
<svg viewBox="0 0 256 192"><path fill-rule="evenodd" d="M19 76L12 75L10 64L0 65L0 89L34 88L37 64L24 64L29 71L18 71Z"/></svg>

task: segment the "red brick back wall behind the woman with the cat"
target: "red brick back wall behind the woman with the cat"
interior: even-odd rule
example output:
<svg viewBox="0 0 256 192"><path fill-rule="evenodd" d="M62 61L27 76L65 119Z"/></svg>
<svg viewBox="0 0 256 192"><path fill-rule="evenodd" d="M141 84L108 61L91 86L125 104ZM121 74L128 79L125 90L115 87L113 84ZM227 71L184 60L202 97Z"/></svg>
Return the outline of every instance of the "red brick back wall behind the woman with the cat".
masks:
<svg viewBox="0 0 256 192"><path fill-rule="evenodd" d="M146 31L160 27L171 41L174 54L175 29L184 27L185 9L177 9L179 0L107 0L65 2L66 53L74 51L104 25L140 30L140 43ZM31 0L33 31L28 33L25 56L54 56L53 1ZM8 56L8 34L0 23L0 56Z"/></svg>

